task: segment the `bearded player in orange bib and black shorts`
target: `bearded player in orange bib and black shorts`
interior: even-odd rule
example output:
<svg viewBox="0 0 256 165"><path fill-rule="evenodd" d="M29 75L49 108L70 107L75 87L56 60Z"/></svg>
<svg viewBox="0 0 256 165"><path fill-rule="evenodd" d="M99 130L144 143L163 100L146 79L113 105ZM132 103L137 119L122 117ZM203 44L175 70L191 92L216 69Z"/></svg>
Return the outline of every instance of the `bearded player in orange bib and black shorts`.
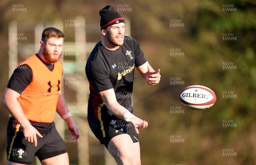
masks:
<svg viewBox="0 0 256 165"><path fill-rule="evenodd" d="M64 140L55 129L55 112L67 122L76 140L79 129L61 94L63 66L59 61L64 34L46 28L40 50L12 74L3 95L11 117L7 126L7 165L31 165L35 156L44 165L68 165Z"/></svg>

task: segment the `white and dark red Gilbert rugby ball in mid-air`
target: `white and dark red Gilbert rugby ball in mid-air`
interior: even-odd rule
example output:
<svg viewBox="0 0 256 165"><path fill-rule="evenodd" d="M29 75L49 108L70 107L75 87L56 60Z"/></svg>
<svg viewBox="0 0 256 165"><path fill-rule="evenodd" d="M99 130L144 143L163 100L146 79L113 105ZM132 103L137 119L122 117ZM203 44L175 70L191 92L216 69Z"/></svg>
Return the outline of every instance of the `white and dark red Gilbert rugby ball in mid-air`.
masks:
<svg viewBox="0 0 256 165"><path fill-rule="evenodd" d="M180 102L191 109L207 109L216 102L216 95L212 89L192 85L180 92Z"/></svg>

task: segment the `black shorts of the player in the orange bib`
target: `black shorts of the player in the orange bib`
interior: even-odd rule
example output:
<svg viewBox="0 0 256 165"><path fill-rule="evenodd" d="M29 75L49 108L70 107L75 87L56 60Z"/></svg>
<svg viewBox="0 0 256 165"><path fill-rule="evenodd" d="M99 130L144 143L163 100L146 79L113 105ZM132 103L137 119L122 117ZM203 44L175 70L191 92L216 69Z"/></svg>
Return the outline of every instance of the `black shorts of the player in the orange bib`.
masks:
<svg viewBox="0 0 256 165"><path fill-rule="evenodd" d="M65 143L55 129L55 123L30 122L43 138L37 136L38 144L27 142L23 135L23 127L13 117L7 126L7 160L31 165L35 156L44 160L67 152Z"/></svg>

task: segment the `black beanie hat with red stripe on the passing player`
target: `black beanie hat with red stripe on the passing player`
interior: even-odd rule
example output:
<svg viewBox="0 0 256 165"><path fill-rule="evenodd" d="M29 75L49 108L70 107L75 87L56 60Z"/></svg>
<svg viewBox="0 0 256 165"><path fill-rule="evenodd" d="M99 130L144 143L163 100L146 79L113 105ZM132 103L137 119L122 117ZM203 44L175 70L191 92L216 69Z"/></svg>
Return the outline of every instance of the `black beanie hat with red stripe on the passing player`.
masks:
<svg viewBox="0 0 256 165"><path fill-rule="evenodd" d="M105 6L105 8L102 8L99 11L100 15L100 30L104 28L108 28L108 26L111 26L113 24L118 24L120 22L125 23L125 19L122 17L121 14L119 14L113 6L108 5Z"/></svg>

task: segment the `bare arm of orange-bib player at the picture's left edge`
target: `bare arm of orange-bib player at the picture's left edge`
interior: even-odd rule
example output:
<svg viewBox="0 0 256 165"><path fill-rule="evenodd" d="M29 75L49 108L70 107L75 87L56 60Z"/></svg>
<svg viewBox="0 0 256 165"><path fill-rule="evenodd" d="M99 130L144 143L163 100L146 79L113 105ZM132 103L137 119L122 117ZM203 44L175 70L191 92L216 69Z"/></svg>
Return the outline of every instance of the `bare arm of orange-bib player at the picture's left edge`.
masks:
<svg viewBox="0 0 256 165"><path fill-rule="evenodd" d="M33 127L29 120L26 118L23 110L20 106L20 103L17 101L17 98L20 97L20 94L12 89L6 88L3 95L3 103L8 109L9 113L14 117L17 121L19 121L20 125L24 128L24 137L25 140L31 144L37 146L37 137L43 137L35 127Z"/></svg>

